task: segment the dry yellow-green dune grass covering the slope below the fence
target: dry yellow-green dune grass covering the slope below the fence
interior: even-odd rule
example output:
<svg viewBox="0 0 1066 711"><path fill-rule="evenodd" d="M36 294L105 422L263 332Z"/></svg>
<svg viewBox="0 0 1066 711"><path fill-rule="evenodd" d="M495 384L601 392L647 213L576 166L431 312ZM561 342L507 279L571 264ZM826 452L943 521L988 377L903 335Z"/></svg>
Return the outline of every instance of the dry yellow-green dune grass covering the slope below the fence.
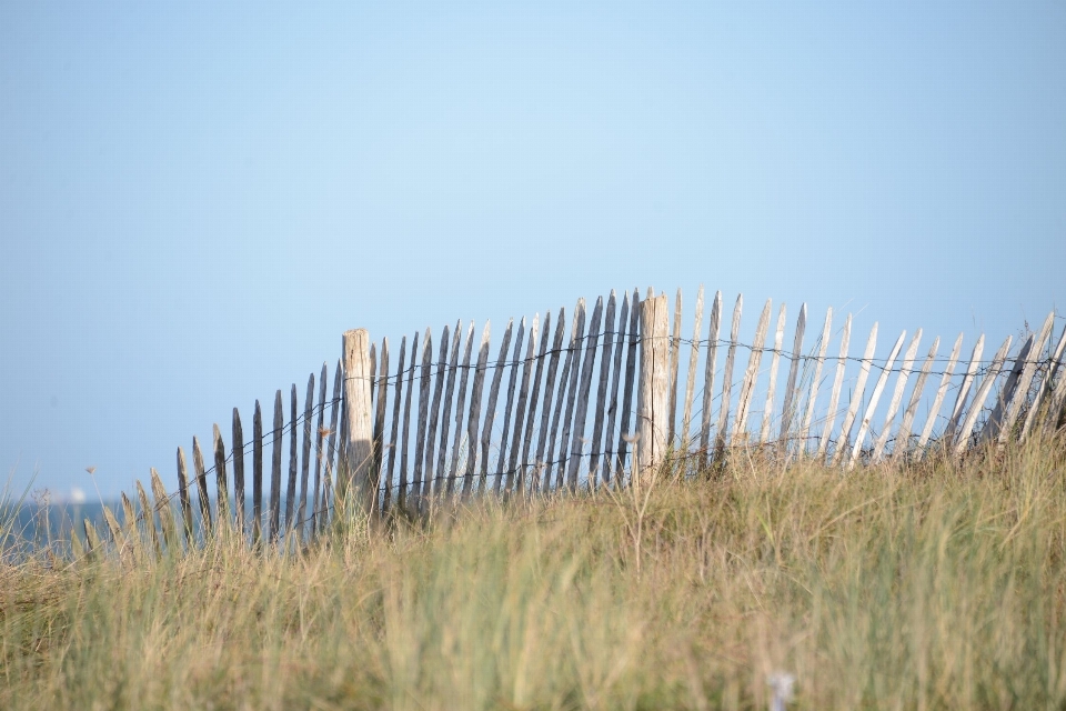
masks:
<svg viewBox="0 0 1066 711"><path fill-rule="evenodd" d="M1066 448L0 569L4 709L1066 708Z"/></svg>

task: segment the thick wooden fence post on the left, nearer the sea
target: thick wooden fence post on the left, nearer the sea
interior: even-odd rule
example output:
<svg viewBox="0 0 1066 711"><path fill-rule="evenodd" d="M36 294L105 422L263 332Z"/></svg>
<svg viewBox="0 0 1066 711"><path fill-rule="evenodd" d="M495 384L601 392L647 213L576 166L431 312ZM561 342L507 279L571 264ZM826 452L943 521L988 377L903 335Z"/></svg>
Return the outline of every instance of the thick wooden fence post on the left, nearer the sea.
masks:
<svg viewBox="0 0 1066 711"><path fill-rule="evenodd" d="M376 508L378 492L372 489L373 410L371 408L370 333L366 329L345 331L344 400L348 420L344 427L344 447L348 451L346 472L338 472L338 493L348 493L352 487L365 511Z"/></svg>

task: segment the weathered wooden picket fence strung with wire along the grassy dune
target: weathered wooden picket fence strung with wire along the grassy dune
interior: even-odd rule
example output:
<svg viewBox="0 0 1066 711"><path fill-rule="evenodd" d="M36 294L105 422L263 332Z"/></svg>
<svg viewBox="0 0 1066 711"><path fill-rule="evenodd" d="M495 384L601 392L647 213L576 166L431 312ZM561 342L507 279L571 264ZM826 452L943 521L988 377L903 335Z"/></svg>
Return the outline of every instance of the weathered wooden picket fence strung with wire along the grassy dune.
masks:
<svg viewBox="0 0 1066 711"><path fill-rule="evenodd" d="M395 354L388 339L379 346L370 342L365 330L349 331L333 371L331 397L326 397L330 373L323 364L318 394L314 373L308 380L302 411L295 384L288 418L282 391L275 393L272 427L266 432L259 402L251 439L245 438L234 408L229 454L214 425L213 467L205 468L197 438L191 472L183 450L178 449L177 507L152 470L154 501L138 482L139 507L123 494L125 523L105 510L108 532L117 543L151 540L158 551L180 548L182 541L195 544L220 525L254 542L308 541L329 524L339 500L359 502L372 515L418 513L449 497L487 492L531 497L624 487L667 458L684 474L707 472L737 450L751 453L752 449L786 462L815 459L846 471L886 459L931 453L961 457L985 441L1002 445L1037 430L1054 431L1063 420L1066 329L1056 342L1054 312L1039 332L1026 334L1013 356L1008 337L990 359L983 359L985 338L979 336L966 360L959 334L946 359L938 357L939 338L919 359L919 329L909 341L906 332L899 334L888 354L877 358L877 324L862 356L855 357L852 317L834 332L832 309L821 334L805 351L805 304L795 321L791 350L785 350L784 304L777 312L773 342L767 342L770 300L758 316L752 343L738 341L743 297L735 302L723 338L725 314L717 292L704 332L703 297L701 289L691 339L682 334L681 291L671 321L666 296L656 297L652 290L643 301L636 290L623 294L621 302L611 292L606 303L596 300L591 314L585 301L579 300L569 329L564 309L554 324L551 312L543 320L539 316L529 323L523 319L516 328L512 320L494 357L487 322L480 339L473 323L465 329L461 322L454 329L445 327L435 347L426 329L413 336L410 349L403 338ZM835 356L829 350L834 339ZM746 365L741 350L747 352ZM684 378L683 352L688 357ZM778 407L783 361L787 361L787 377ZM823 388L831 371L832 387ZM872 375L873 389L867 392ZM925 393L929 379L936 377L939 383L929 403ZM887 409L875 422L893 378ZM842 402L845 392L846 404ZM954 404L945 410L949 399ZM919 421L923 403L927 411ZM286 442L288 454L283 452ZM264 510L266 447L271 468ZM249 452L250 510L245 502ZM211 479L215 481L213 499ZM193 489L197 507L191 501ZM134 535L138 530L147 539ZM90 550L105 544L88 521L86 535Z"/></svg>

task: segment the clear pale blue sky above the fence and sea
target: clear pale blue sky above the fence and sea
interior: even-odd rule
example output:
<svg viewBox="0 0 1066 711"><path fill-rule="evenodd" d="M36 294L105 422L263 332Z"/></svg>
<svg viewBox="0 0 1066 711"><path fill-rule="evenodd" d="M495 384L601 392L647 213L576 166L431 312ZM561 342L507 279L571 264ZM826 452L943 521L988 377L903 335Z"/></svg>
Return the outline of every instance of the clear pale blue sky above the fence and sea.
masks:
<svg viewBox="0 0 1066 711"><path fill-rule="evenodd" d="M1066 4L4 2L0 244L58 495L173 487L349 328L703 283L998 343L1066 306Z"/></svg>

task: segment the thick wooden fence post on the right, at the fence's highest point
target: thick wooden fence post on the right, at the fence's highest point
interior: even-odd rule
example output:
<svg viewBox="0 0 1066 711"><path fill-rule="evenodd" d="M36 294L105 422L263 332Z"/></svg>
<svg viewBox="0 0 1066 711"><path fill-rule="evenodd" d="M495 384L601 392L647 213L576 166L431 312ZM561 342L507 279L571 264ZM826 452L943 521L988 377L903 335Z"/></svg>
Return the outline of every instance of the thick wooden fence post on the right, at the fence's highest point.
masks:
<svg viewBox="0 0 1066 711"><path fill-rule="evenodd" d="M666 455L670 413L670 332L666 296L652 297L641 304L641 391L637 398L640 477L651 477Z"/></svg>

